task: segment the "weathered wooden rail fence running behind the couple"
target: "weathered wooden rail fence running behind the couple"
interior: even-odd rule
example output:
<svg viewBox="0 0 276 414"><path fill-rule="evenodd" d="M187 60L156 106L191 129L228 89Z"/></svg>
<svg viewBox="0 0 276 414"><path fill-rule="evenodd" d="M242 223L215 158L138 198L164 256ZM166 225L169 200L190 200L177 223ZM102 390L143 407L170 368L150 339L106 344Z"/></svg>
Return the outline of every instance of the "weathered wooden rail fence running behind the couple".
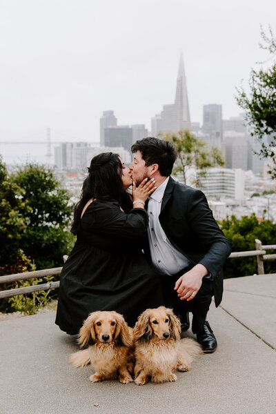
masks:
<svg viewBox="0 0 276 414"><path fill-rule="evenodd" d="M245 251L245 252L233 252L230 254L229 259L235 257L257 257L257 268L258 274L264 275L264 260L276 259L276 253L273 255L266 255L266 250L276 250L276 244L262 245L260 240L255 239L256 250ZM66 262L68 256L63 256L64 262ZM14 275L0 276L0 284L19 282L26 279L35 279L37 277L51 276L51 275L60 275L62 267L44 269L44 270L34 270L33 272L25 273L16 273ZM57 282L48 282L45 284L37 284L34 286L28 286L25 288L9 289L0 291L0 299L7 297L22 295L25 293L39 292L41 290L49 290L59 288L59 281Z"/></svg>

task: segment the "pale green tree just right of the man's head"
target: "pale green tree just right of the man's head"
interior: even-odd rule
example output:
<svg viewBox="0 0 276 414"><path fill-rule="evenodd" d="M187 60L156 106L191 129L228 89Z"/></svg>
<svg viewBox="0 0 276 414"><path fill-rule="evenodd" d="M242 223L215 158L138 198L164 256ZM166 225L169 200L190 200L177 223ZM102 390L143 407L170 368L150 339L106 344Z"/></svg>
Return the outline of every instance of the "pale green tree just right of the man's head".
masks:
<svg viewBox="0 0 276 414"><path fill-rule="evenodd" d="M177 165L173 172L182 173L184 184L187 182L188 168L197 168L197 177L194 181L199 184L200 177L206 174L207 168L224 166L224 160L218 148L212 147L208 150L206 143L195 137L189 130L165 132L162 136L177 151Z"/></svg>

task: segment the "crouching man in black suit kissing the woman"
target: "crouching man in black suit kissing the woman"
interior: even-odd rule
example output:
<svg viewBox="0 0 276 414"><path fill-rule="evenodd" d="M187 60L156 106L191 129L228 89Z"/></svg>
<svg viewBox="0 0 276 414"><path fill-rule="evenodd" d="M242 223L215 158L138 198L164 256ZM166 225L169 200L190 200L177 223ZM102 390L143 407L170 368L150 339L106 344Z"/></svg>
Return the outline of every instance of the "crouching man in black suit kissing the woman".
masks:
<svg viewBox="0 0 276 414"><path fill-rule="evenodd" d="M223 291L221 266L230 255L230 246L217 225L204 193L184 186L170 177L177 158L167 141L145 138L132 145L135 157L130 164L137 185L154 179L157 189L148 198L148 246L145 253L159 270L166 306L171 306L192 331L205 353L214 352L217 341L206 315L215 295L219 306Z"/></svg>

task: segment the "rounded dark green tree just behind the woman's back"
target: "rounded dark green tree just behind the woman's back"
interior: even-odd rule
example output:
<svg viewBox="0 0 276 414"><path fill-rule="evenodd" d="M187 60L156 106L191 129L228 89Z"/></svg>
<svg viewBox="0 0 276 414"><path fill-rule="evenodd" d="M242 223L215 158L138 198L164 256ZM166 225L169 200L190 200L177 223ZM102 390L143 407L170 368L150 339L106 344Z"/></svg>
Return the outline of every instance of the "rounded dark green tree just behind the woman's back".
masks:
<svg viewBox="0 0 276 414"><path fill-rule="evenodd" d="M73 242L68 231L73 210L68 190L54 170L39 164L17 167L10 179L21 188L18 210L26 224L21 234L23 252L37 269L61 266Z"/></svg>

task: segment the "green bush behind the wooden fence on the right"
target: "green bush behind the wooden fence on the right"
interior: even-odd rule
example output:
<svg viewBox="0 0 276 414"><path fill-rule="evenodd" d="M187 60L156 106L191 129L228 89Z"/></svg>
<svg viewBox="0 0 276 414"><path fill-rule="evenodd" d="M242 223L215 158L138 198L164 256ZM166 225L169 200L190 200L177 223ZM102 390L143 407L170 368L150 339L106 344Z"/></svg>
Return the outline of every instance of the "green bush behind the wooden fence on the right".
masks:
<svg viewBox="0 0 276 414"><path fill-rule="evenodd" d="M232 246L233 252L255 250L255 239L262 244L275 244L276 224L270 220L258 221L255 215L237 219L235 216L221 221L221 230ZM267 253L275 253L273 250ZM275 273L275 261L264 262L266 273ZM224 264L224 277L241 277L257 273L256 257L239 257L227 259Z"/></svg>

